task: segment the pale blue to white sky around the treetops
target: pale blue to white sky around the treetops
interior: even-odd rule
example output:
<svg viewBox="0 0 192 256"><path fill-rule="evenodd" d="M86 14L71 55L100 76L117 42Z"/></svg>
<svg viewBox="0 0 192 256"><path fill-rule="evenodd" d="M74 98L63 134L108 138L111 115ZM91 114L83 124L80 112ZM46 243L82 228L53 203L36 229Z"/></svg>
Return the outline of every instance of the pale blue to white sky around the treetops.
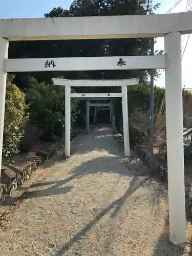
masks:
<svg viewBox="0 0 192 256"><path fill-rule="evenodd" d="M161 6L157 13L165 13L172 7L177 0L154 0L155 3L161 2ZM43 17L44 13L50 12L54 7L61 6L62 8L69 8L71 0L6 0L2 1L0 8L0 18L35 18ZM182 2L172 12L183 12L186 8L187 0ZM191 36L192 37L192 36ZM185 47L187 35L182 39L183 49ZM155 49L164 50L163 38L157 38L157 44ZM192 72L189 65L192 59L192 40L189 39L187 49L182 59L182 75L183 85L185 88L192 88ZM155 84L160 87L164 87L164 72L160 78L155 81Z"/></svg>

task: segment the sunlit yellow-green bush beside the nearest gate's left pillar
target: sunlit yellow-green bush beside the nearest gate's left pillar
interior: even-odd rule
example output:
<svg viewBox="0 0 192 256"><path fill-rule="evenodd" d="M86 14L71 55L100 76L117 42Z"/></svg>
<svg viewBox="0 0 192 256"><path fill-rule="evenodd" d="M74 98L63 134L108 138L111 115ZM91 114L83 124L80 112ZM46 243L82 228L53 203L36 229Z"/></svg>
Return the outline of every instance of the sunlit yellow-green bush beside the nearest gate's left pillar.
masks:
<svg viewBox="0 0 192 256"><path fill-rule="evenodd" d="M20 126L27 118L25 116L25 94L8 79L5 102L3 158L18 153L20 139L24 131Z"/></svg>

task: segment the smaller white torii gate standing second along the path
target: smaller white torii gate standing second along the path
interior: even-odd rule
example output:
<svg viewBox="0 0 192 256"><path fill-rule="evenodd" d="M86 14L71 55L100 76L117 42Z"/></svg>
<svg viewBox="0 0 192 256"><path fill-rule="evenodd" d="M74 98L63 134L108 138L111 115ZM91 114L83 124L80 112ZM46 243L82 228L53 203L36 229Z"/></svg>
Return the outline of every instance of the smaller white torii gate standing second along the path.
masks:
<svg viewBox="0 0 192 256"><path fill-rule="evenodd" d="M67 80L52 78L55 86L65 86L65 155L70 156L71 98L122 97L124 154L130 156L127 86L139 83L139 78L122 80ZM121 93L71 93L71 87L121 87Z"/></svg>

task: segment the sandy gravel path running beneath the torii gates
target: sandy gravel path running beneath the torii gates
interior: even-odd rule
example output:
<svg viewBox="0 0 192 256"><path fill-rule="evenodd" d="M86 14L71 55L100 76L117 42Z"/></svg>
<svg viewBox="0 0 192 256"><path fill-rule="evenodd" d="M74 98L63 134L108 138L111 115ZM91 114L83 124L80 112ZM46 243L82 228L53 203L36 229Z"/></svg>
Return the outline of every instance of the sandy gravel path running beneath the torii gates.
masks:
<svg viewBox="0 0 192 256"><path fill-rule="evenodd" d="M72 141L0 229L4 256L182 255L168 243L167 190L121 135L96 127Z"/></svg>

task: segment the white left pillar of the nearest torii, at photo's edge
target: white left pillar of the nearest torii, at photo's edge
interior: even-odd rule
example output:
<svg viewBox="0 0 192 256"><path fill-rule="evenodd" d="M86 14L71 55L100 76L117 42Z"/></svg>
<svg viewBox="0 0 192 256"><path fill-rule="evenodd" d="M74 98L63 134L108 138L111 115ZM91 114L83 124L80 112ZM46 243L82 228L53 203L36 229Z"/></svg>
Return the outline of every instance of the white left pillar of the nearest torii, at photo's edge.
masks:
<svg viewBox="0 0 192 256"><path fill-rule="evenodd" d="M5 72L5 59L8 58L9 41L0 38L0 177L2 167L2 150L3 150L3 133L4 133L4 116L5 116L5 96L7 72Z"/></svg>

